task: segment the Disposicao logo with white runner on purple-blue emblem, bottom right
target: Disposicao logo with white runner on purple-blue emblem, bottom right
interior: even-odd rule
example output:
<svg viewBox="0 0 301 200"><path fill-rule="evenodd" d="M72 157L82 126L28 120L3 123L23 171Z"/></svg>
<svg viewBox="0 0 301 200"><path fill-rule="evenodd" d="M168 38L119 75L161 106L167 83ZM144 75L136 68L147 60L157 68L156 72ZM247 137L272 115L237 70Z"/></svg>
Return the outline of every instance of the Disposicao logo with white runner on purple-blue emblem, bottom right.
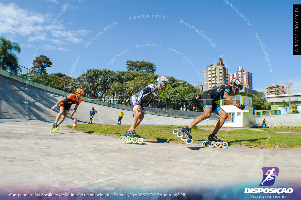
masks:
<svg viewBox="0 0 301 200"><path fill-rule="evenodd" d="M259 186L272 186L275 183L275 176L278 176L278 167L262 167L263 177ZM245 188L244 193L292 193L292 188Z"/></svg>

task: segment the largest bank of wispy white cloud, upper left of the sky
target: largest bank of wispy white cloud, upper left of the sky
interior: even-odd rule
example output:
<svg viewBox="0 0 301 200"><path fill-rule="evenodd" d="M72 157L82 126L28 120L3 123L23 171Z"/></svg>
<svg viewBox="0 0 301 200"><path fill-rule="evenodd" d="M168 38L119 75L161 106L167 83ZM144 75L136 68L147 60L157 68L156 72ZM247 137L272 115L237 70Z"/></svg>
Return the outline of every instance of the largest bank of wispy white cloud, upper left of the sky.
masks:
<svg viewBox="0 0 301 200"><path fill-rule="evenodd" d="M57 3L56 0L49 1ZM70 4L66 6L72 8ZM49 39L56 45L66 45L68 42L80 43L83 41L82 37L90 33L88 30L65 30L63 18L52 24L54 17L55 15L51 13L40 14L19 8L14 3L0 2L0 35L7 35L11 38L17 35L27 36L27 40L33 42L41 40L45 31L49 30L48 34L43 37L44 41Z"/></svg>

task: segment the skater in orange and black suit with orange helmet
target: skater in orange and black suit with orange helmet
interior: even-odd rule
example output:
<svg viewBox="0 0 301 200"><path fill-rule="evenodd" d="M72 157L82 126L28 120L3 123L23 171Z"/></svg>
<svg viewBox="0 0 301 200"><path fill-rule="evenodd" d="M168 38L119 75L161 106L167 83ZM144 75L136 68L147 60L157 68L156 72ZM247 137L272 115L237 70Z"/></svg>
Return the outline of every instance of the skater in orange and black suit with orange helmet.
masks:
<svg viewBox="0 0 301 200"><path fill-rule="evenodd" d="M79 104L82 102L81 98L82 98L82 95L84 95L84 94L85 94L84 90L81 88L78 88L76 90L76 94L67 95L66 97L64 97L63 99L58 101L54 106L51 107L51 110L55 110L57 105L60 104L60 111L57 114L57 117L55 118L55 122L54 122L50 132L55 132L58 129L58 126L65 120L67 114L69 113L71 105L76 104L72 113L70 114L70 116L73 117L73 114L76 112Z"/></svg>

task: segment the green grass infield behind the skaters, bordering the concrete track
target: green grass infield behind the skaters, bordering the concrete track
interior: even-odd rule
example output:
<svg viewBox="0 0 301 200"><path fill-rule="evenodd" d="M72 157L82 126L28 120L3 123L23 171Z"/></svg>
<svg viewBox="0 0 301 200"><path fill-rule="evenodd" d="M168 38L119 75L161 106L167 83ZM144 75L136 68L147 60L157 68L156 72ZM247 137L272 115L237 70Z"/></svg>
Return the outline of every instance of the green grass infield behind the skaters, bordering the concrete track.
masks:
<svg viewBox="0 0 301 200"><path fill-rule="evenodd" d="M72 125L68 125L71 128ZM88 133L97 133L107 136L123 136L129 125L77 125L75 130L80 130ZM135 131L141 137L146 140L157 142L173 142L173 143L185 143L175 134L172 134L172 130L175 128L181 128L180 126L138 126ZM207 127L208 128L208 127ZM265 128L262 128L265 130ZM267 130L272 131L274 128ZM281 128L276 128L277 130ZM287 128L286 128L287 129ZM297 129L297 128L296 128ZM277 131L275 130L275 131ZM293 132L293 128L290 131L281 132ZM200 144L206 140L212 130L202 130L199 128L193 128L191 135L194 143ZM256 148L281 148L281 149L300 149L301 148L301 134L298 133L275 133L275 132L263 132L255 131L247 128L240 130L220 131L217 136L228 142L229 146L245 146Z"/></svg>

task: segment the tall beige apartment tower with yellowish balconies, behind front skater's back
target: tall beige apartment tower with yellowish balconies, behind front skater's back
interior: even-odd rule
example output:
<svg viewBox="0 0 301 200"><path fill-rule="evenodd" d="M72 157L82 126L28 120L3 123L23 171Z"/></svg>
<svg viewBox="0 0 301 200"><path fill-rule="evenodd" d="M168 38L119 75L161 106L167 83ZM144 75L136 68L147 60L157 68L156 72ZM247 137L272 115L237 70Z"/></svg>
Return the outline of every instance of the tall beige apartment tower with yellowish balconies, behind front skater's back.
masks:
<svg viewBox="0 0 301 200"><path fill-rule="evenodd" d="M222 84L227 84L227 68L222 58L219 62L210 64L203 70L204 90L211 89Z"/></svg>

